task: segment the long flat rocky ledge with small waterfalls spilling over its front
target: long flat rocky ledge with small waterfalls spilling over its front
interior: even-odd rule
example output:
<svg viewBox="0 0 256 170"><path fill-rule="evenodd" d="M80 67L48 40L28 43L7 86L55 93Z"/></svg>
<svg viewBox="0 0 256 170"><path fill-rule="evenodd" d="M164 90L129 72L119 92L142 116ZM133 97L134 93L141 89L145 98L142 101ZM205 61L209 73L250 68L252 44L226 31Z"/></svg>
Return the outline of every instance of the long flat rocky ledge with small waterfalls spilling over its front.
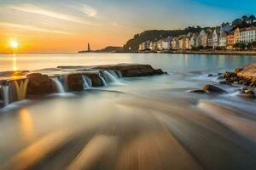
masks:
<svg viewBox="0 0 256 170"><path fill-rule="evenodd" d="M119 64L58 66L38 71L0 72L0 106L17 100L35 99L47 94L82 91L108 86L121 77L164 74L151 65Z"/></svg>

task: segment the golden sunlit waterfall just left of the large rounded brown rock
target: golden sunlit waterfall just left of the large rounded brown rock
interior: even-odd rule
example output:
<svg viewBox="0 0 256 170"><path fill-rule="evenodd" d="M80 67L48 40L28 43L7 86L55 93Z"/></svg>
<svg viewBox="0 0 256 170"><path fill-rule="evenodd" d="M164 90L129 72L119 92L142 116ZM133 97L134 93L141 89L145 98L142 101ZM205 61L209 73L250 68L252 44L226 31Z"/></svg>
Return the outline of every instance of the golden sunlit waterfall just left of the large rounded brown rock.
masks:
<svg viewBox="0 0 256 170"><path fill-rule="evenodd" d="M15 92L17 94L17 100L23 100L26 99L26 88L29 80L20 80L20 84L18 81L15 81Z"/></svg>

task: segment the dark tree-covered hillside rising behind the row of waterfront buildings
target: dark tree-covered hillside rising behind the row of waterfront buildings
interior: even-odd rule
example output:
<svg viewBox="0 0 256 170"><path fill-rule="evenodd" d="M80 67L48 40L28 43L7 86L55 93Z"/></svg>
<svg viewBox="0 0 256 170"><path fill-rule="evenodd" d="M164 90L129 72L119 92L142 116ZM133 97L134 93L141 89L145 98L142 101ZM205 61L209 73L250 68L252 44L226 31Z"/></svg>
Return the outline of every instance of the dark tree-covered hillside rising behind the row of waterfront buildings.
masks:
<svg viewBox="0 0 256 170"><path fill-rule="evenodd" d="M179 35L187 34L189 32L201 31L201 26L189 26L183 30L149 30L143 31L142 33L136 34L128 42L125 43L124 50L137 51L139 44L145 41L157 41L163 37L177 37Z"/></svg>

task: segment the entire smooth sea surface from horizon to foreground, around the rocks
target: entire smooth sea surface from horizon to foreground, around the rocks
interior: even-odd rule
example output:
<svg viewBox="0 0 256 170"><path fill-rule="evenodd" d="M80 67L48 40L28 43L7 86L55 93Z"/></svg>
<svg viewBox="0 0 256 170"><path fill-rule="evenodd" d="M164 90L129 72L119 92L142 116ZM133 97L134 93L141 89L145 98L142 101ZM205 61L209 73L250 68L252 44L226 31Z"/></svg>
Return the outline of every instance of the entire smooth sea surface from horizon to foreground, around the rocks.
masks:
<svg viewBox="0 0 256 170"><path fill-rule="evenodd" d="M217 77L254 62L246 55L0 54L0 71L137 63L168 73L4 107L0 169L256 169L256 100ZM189 93L206 84L228 94Z"/></svg>

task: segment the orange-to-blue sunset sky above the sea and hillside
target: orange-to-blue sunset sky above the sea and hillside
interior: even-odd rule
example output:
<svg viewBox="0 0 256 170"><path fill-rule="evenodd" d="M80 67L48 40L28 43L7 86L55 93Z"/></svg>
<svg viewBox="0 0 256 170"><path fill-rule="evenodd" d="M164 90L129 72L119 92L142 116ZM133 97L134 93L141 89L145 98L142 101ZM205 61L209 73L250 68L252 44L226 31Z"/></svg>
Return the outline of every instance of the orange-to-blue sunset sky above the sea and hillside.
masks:
<svg viewBox="0 0 256 170"><path fill-rule="evenodd" d="M256 14L255 0L0 0L0 53L123 46L139 32L218 26Z"/></svg>

